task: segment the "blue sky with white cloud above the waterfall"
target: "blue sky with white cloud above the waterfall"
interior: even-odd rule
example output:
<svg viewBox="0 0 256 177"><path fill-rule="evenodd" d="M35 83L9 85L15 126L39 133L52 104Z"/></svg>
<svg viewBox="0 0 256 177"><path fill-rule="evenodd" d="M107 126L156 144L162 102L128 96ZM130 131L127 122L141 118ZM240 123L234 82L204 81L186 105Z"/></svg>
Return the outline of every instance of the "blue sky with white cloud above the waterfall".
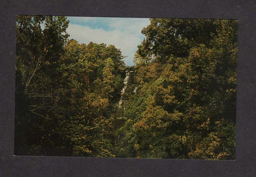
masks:
<svg viewBox="0 0 256 177"><path fill-rule="evenodd" d="M69 39L79 43L114 44L122 51L124 63L132 66L137 46L142 42L143 27L150 24L146 18L113 18L113 17L67 17Z"/></svg>

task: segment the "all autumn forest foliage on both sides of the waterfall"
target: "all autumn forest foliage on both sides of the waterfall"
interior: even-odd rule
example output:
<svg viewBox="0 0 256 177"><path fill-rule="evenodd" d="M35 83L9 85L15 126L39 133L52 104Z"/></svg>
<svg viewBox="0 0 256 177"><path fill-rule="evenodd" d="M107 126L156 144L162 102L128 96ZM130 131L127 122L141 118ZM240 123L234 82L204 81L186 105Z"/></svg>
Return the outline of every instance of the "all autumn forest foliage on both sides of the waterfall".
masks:
<svg viewBox="0 0 256 177"><path fill-rule="evenodd" d="M150 21L117 128L121 51L69 40L66 17L17 16L15 155L234 159L237 21Z"/></svg>

